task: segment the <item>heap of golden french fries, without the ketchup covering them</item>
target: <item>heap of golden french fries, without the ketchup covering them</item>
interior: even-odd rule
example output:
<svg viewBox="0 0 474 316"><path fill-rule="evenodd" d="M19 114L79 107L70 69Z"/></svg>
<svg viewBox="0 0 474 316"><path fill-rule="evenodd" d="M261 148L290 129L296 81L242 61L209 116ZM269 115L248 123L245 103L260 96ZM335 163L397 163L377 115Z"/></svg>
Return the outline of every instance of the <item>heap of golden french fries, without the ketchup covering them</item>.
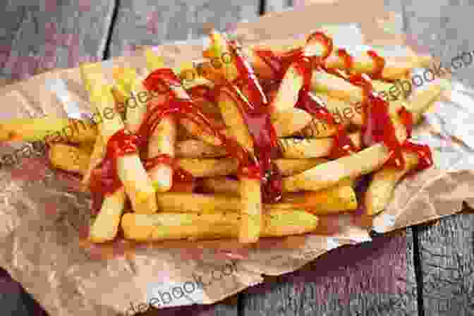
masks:
<svg viewBox="0 0 474 316"><path fill-rule="evenodd" d="M229 55L231 48L225 35L213 31L210 37L212 44L203 54L205 57L215 59ZM281 53L279 47L265 48ZM335 53L336 48L341 47L327 51L320 42L308 41L303 51L310 56L329 54L324 60L324 67L328 69L367 75L375 71L375 61L367 54L353 56L351 69L345 69L346 61ZM272 69L255 54L255 47L243 47L243 52L258 80L272 78ZM145 50L145 56L148 73L165 68L161 56L151 49ZM427 62L425 56L415 54L403 62L387 60L382 78L372 80L372 85L375 90L388 91L394 80L408 78L412 68L426 66ZM181 80L181 85L170 85L167 93L190 99L188 92L197 85L212 89L217 80L224 78L233 82L241 75L233 60L221 63L219 67L213 66L209 60L201 61L199 67L206 71L193 80ZM180 78L180 73L190 69L172 71ZM125 113L121 113L117 104L123 103L130 95L147 91L144 78L134 69L115 68L114 85L109 85L104 79L101 63L82 63L80 72L90 103L97 112L116 111L117 115L71 135L67 143L51 139L48 143L52 166L82 175L87 186L94 170L106 157L109 140L123 130L131 135L137 133L152 104L166 101L165 96L159 94L154 95L152 102L142 102L137 97L137 106L126 107ZM231 237L238 238L241 243L255 243L260 237L315 231L318 217L354 211L362 200L367 214L381 212L389 204L396 183L416 168L418 155L403 152L406 164L402 169L385 166L389 149L384 143L377 143L348 156L331 159L329 154L338 126L326 124L322 133L311 133L312 126L324 122L295 107L302 86L302 75L296 71L296 66L291 65L277 89L268 96L272 125L281 147L281 158L274 160L284 177L279 202L262 202L261 183L257 179L235 177L239 161L229 157L215 135L191 119L164 116L150 134L147 148L116 158L116 172L122 186L104 196L102 208L90 226L90 241L111 241L121 230L125 238L134 241ZM358 85L316 68L312 71L311 92L333 113L354 109L354 104L360 104L365 97ZM241 93L245 95L246 92ZM439 85L432 84L427 89L412 95L402 94L396 101L389 102L390 119L401 142L408 134L398 110L405 107L417 123L440 93ZM233 99L224 94L219 95L216 102L200 100L199 104L205 114L223 127L227 137L253 152L253 138ZM339 122L348 130L358 148L361 148L360 128L364 119L362 112L353 111L350 118ZM71 120L56 118L5 121L0 123L0 140L12 140L12 135L15 135L15 140L42 140L51 128L61 130L68 124ZM194 181L174 183L176 166L170 164L156 164L146 170L144 159L159 154L172 157L176 166L191 174ZM354 187L358 179L367 174L372 175L370 186L366 192L356 194ZM127 200L130 200L131 209L126 209Z"/></svg>

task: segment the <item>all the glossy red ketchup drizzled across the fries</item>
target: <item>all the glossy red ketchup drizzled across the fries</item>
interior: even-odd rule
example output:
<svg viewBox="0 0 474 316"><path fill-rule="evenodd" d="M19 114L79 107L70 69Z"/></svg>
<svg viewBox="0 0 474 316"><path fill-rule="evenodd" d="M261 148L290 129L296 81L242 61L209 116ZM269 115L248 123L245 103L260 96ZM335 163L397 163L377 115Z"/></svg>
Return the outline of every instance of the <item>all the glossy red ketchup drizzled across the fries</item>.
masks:
<svg viewBox="0 0 474 316"><path fill-rule="evenodd" d="M166 100L162 103L152 101L147 104L145 120L135 135L126 132L126 130L119 130L111 136L107 143L106 157L92 171L90 179L91 191L108 195L119 189L121 181L116 172L116 159L131 153L139 153L143 157L140 149L146 150L147 142L159 122L166 116L173 116L178 119L190 119L204 128L207 133L221 140L227 152L232 157L238 159L238 174L260 180L262 183L262 200L267 203L279 201L282 191L282 176L273 159L281 157L282 153L280 152L277 135L270 120L270 102L265 92L274 90L275 85L281 83L288 67L291 65L296 66L296 69L303 76L303 87L299 91L296 107L304 109L316 119L322 119L331 125L336 125L334 117L327 110L324 102L310 92L312 71L335 73L339 77L363 88L365 95L363 101L365 122L362 128L362 143L364 146L383 142L390 152L387 164L398 168L405 166L402 150L409 150L418 154L419 163L417 170L432 166L430 148L427 145L421 145L408 140L413 129L411 113L405 107L399 110L400 119L404 126L406 126L408 135L407 140L401 143L396 138L396 129L389 116L389 104L382 97L375 95L372 83L366 78L366 75L350 75L351 68L353 68L353 57L345 49L338 49L336 54L344 59L344 70L346 73L339 69L327 69L324 67L324 61L332 53L332 39L322 32L314 32L308 37L307 46L310 47L313 42L319 42L324 45L325 53L322 56L308 56L304 48L292 49L278 56L273 51L256 50L255 54L272 69L274 74L274 80L266 83L265 89L262 88L262 85L257 80L257 76L249 61L243 56L241 47L236 42L231 41L227 42L227 44L238 71L238 78L232 82L221 80L213 89L205 85L198 85L190 88L188 95L186 95L176 92L178 89L183 88L181 87L181 81L171 69L161 68L153 71L145 79L144 85L150 91L164 91L163 87L165 87ZM367 54L373 59L375 64L370 78L381 78L385 66L384 59L378 56L375 51L367 51ZM243 121L253 139L253 153L241 147L236 140L226 138L224 133L222 133L222 126L218 126L213 119L209 119L198 107L197 99L216 102L218 94L225 94L238 105ZM329 157L336 159L357 151L358 148L353 144L344 126L337 126L337 131L334 135L334 147ZM174 181L184 183L193 181L193 176L180 169L175 160L169 155L160 154L157 157L143 160L147 170L152 169L157 164L167 164L174 169Z"/></svg>

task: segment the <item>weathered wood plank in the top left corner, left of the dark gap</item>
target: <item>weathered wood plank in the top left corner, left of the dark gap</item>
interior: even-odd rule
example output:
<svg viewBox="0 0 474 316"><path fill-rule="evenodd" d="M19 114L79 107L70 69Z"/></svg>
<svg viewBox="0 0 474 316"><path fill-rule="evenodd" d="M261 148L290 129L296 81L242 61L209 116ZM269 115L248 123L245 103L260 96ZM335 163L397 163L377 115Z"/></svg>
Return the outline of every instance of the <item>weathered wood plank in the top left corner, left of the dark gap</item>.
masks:
<svg viewBox="0 0 474 316"><path fill-rule="evenodd" d="M0 77L19 79L102 59L114 0L5 0L2 8Z"/></svg>

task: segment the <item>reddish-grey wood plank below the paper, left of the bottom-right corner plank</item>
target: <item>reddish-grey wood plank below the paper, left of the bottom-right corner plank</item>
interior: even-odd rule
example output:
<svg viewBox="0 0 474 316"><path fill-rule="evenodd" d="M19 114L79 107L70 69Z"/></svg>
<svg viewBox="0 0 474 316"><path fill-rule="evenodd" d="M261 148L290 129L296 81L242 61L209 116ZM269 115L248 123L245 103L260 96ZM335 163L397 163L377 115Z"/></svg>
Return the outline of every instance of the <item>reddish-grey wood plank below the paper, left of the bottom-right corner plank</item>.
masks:
<svg viewBox="0 0 474 316"><path fill-rule="evenodd" d="M418 315L416 291L408 230L336 248L241 296L243 316Z"/></svg>

